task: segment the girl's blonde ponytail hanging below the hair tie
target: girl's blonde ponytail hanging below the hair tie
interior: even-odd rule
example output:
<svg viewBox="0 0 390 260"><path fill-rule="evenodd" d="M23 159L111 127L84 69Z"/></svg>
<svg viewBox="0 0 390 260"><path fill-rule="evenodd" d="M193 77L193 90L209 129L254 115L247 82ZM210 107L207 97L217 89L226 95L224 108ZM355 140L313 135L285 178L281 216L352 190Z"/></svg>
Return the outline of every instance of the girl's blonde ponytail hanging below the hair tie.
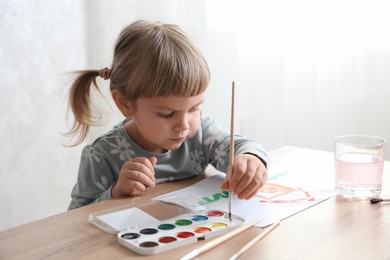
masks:
<svg viewBox="0 0 390 260"><path fill-rule="evenodd" d="M99 76L98 70L76 71L76 76L69 90L69 108L73 112L74 122L72 128L66 133L68 136L75 136L77 139L70 146L76 146L82 143L89 131L91 125L99 121L99 117L92 113L91 107L91 86L95 87L100 93L96 84L96 77Z"/></svg>

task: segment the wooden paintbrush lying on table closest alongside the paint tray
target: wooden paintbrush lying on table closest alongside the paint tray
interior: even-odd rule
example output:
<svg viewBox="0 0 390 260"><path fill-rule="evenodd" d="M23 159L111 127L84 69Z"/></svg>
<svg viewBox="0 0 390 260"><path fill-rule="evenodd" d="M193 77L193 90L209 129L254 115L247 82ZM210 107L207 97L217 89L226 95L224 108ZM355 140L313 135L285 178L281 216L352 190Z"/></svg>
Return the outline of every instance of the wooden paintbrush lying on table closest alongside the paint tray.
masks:
<svg viewBox="0 0 390 260"><path fill-rule="evenodd" d="M253 220L251 222L248 222L248 224L246 224L246 225L243 225L243 226L241 226L239 228L234 229L233 231L230 231L229 233L226 233L225 235L217 237L217 238L211 240L210 242L207 242L206 244L200 246L198 249L195 249L195 250L189 252L188 254L186 254L185 256L180 258L180 260L190 260L190 259L193 259L193 258L197 257L198 255L200 255L200 254L202 254L202 253L204 253L204 252L206 252L206 251L208 251L208 250L218 246L222 242L225 242L229 238L232 238L235 235L238 235L241 232L247 230L248 228L253 227L254 225L259 223L260 221L261 221L261 218L257 218L257 219L255 219L255 220Z"/></svg>

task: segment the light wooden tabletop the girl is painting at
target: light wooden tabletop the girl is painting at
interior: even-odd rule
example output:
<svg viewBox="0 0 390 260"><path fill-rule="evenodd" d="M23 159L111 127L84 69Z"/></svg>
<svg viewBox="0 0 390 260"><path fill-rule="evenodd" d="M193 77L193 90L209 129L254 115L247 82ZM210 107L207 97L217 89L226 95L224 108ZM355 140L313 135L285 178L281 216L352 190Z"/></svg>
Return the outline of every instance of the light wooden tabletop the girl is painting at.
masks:
<svg viewBox="0 0 390 260"><path fill-rule="evenodd" d="M297 147L270 152L273 163L334 174L333 154ZM212 173L207 173L212 174ZM206 174L205 174L206 175ZM147 191L141 202L204 178L165 183ZM390 162L385 162L383 197L390 197ZM116 236L90 224L88 215L131 203L108 200L0 232L0 259L179 259L204 242L154 256L139 256ZM227 259L254 236L253 227L197 259ZM390 203L371 205L333 197L282 221L241 259L390 259Z"/></svg>

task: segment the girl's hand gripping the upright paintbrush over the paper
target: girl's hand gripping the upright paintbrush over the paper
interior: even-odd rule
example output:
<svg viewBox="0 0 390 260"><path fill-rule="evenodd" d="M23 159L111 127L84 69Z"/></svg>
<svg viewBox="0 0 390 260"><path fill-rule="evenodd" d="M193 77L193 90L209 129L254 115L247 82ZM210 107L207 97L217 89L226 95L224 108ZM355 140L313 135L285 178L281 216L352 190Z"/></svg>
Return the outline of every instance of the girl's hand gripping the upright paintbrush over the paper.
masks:
<svg viewBox="0 0 390 260"><path fill-rule="evenodd" d="M234 158L233 169L228 169L221 189L232 191L239 199L249 200L267 179L267 169L259 158L251 154L239 154Z"/></svg>

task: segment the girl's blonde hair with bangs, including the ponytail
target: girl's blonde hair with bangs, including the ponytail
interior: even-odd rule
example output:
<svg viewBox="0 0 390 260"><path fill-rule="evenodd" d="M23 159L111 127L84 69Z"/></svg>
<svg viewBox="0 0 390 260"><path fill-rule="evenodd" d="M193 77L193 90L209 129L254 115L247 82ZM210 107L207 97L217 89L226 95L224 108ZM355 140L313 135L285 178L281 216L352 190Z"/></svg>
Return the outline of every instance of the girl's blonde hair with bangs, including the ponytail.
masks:
<svg viewBox="0 0 390 260"><path fill-rule="evenodd" d="M91 111L91 86L99 90L98 70L78 71L69 92L74 123L67 134L86 138L96 122ZM191 40L172 24L136 21L120 33L110 70L110 89L118 89L131 101L139 97L196 96L210 80L206 60ZM95 119L95 120L94 120Z"/></svg>

